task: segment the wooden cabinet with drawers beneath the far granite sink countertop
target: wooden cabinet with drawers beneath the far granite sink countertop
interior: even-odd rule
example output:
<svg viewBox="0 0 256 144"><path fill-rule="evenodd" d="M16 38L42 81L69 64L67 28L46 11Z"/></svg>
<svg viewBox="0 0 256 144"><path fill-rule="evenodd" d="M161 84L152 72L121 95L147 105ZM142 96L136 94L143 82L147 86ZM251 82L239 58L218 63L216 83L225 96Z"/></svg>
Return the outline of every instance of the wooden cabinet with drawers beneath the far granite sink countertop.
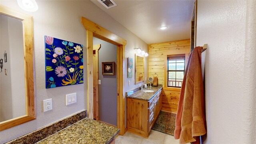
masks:
<svg viewBox="0 0 256 144"><path fill-rule="evenodd" d="M161 108L161 90L148 101L127 98L127 131L148 138Z"/></svg>

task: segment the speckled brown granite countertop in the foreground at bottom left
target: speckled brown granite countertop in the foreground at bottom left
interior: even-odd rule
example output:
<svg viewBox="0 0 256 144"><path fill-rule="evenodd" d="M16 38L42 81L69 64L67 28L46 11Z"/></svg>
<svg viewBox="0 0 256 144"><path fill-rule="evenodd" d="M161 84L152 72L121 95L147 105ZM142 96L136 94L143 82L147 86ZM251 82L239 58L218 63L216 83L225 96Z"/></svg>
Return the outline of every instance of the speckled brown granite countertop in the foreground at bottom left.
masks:
<svg viewBox="0 0 256 144"><path fill-rule="evenodd" d="M113 126L84 118L36 144L108 144L119 131Z"/></svg>

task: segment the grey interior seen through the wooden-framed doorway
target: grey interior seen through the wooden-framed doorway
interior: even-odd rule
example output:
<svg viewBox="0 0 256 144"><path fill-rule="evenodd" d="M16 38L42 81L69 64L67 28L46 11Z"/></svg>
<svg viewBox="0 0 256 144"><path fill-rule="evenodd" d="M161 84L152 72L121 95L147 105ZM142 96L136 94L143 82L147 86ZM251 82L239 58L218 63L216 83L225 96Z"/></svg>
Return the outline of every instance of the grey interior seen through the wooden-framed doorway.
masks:
<svg viewBox="0 0 256 144"><path fill-rule="evenodd" d="M117 126L117 46L95 37L93 37L93 43L101 44L98 52L98 80L95 80L96 78L94 77L95 83L98 84L98 120ZM102 73L102 69L104 69L102 68L102 62L114 62L114 67L111 68L111 70L114 70L114 75L112 75L113 73ZM94 65L96 64L94 63Z"/></svg>

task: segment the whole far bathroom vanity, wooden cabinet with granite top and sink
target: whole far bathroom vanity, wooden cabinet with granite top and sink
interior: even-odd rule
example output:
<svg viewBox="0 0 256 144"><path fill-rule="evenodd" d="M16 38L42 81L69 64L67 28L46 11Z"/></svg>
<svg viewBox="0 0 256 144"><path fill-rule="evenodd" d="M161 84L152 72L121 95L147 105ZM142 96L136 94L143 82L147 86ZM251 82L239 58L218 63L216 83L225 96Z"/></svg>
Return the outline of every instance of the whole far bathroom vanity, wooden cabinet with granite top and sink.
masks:
<svg viewBox="0 0 256 144"><path fill-rule="evenodd" d="M162 108L162 85L131 91L126 96L127 131L148 138Z"/></svg>

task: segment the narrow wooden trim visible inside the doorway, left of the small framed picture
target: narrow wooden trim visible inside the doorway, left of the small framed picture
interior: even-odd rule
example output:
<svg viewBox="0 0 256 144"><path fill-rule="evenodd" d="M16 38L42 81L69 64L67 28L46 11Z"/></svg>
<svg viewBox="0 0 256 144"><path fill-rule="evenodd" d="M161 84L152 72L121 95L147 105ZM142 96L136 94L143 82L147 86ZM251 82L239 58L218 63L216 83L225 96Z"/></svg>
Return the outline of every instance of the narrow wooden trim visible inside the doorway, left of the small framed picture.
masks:
<svg viewBox="0 0 256 144"><path fill-rule="evenodd" d="M93 45L93 50L95 50L95 59L96 59L96 72L95 72L95 85L96 85L96 120L99 120L99 50L101 48L101 44Z"/></svg>

